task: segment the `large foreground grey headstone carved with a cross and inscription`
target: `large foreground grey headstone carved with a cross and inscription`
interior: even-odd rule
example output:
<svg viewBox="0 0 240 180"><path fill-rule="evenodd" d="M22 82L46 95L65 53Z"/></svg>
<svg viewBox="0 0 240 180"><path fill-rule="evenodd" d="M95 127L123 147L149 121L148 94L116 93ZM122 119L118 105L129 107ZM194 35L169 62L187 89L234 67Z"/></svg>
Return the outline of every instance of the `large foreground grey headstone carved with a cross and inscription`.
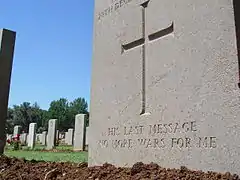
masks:
<svg viewBox="0 0 240 180"><path fill-rule="evenodd" d="M90 166L240 174L237 2L95 0Z"/></svg>

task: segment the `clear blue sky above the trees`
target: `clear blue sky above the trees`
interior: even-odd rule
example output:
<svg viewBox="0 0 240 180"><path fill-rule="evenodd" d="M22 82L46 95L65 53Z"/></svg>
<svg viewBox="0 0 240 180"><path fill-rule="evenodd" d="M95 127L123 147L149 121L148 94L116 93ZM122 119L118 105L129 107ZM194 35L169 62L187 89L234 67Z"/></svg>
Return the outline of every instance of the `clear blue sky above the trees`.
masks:
<svg viewBox="0 0 240 180"><path fill-rule="evenodd" d="M9 106L89 102L93 0L2 1L0 28L17 32Z"/></svg>

